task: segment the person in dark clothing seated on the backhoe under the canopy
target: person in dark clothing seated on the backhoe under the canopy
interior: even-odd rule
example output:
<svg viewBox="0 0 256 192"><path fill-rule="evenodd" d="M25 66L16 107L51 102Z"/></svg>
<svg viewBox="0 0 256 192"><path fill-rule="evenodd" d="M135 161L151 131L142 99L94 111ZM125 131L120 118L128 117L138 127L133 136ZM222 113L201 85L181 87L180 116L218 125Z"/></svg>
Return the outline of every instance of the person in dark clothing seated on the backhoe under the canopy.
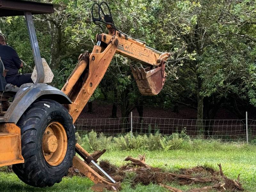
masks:
<svg viewBox="0 0 256 192"><path fill-rule="evenodd" d="M6 45L5 38L0 34L0 57L4 63L4 68L7 71L7 75L5 76L6 83L10 83L20 87L25 83L33 83L31 79L32 73L29 74L19 74L19 69L23 67L23 63L21 62L17 52Z"/></svg>

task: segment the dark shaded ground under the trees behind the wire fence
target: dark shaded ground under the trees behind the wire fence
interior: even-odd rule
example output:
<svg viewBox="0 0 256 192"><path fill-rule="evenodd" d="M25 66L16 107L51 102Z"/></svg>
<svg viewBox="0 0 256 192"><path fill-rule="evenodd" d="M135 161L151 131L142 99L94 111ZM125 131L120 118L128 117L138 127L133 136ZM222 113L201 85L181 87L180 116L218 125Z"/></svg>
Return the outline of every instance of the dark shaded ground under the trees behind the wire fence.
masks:
<svg viewBox="0 0 256 192"><path fill-rule="evenodd" d="M112 105L102 100L93 101L94 113L87 113L86 106L75 126L79 134L85 134L94 130L97 133L113 136L119 133L130 132L130 117L128 118L111 118ZM133 113L133 132L137 133L156 133L157 131L164 135L172 133L180 133L186 129L187 135L191 139L198 137L198 127L196 120L195 109L186 106L179 107L179 113L173 112L171 109L162 109L152 106L145 106L143 118L139 117L136 109ZM118 110L117 117L121 117L121 112ZM236 120L238 117L232 115L226 109L219 109L215 119L219 120L204 120L205 134L209 138L220 140L243 140L246 138L245 120ZM256 121L248 120L248 129L256 129ZM203 133L200 133L203 134ZM205 135L205 138L208 138ZM251 132L251 137L256 135L255 131Z"/></svg>

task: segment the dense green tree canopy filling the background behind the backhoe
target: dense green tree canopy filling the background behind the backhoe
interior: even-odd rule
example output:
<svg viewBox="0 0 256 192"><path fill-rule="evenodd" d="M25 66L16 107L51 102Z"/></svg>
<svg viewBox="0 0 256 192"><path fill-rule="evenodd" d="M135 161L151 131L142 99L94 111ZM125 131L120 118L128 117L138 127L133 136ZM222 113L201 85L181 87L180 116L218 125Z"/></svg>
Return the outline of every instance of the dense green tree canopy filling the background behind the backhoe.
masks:
<svg viewBox="0 0 256 192"><path fill-rule="evenodd" d="M61 88L78 55L92 50L100 28L91 21L94 1L41 0L61 6L52 15L35 15L41 55L50 64L53 85ZM142 97L129 65L115 55L92 100L105 95L123 116L147 102L197 108L198 119L214 118L222 107L241 116L256 106L256 3L249 0L109 0L116 27L159 51L171 52L168 78L157 97ZM34 67L23 17L1 18L0 30L21 59ZM31 68L27 67L26 72Z"/></svg>

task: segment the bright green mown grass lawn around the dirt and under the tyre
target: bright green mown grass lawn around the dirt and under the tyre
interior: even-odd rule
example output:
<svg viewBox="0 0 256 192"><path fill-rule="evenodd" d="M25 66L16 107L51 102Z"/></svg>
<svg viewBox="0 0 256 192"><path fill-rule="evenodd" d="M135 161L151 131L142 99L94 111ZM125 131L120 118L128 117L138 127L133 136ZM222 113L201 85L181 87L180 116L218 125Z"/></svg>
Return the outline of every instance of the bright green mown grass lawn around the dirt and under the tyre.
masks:
<svg viewBox="0 0 256 192"><path fill-rule="evenodd" d="M103 159L108 159L118 166L125 164L126 156L137 157L138 154L146 154L147 164L153 167L160 167L172 172L180 168L189 168L196 165L207 165L218 169L217 163L221 163L223 172L226 176L236 179L240 173L240 180L248 192L256 192L256 146L244 147L229 144L227 148L199 151L169 150L169 151L109 151L103 155ZM132 176L130 176L131 178ZM93 183L87 178L72 177L63 178L62 182L53 187L34 188L21 182L14 173L0 172L0 192L91 192L90 187ZM178 186L171 183L173 187L183 190L200 186ZM164 192L167 191L157 185L142 186L135 188L130 186L128 179L122 183L122 192Z"/></svg>

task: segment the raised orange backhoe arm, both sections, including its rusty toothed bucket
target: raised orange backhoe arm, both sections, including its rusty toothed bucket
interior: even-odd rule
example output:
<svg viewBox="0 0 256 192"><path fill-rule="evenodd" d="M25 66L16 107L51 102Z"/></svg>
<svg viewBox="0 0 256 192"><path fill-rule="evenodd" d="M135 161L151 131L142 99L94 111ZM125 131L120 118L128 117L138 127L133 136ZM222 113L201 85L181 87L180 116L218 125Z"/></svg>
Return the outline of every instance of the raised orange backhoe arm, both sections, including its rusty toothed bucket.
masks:
<svg viewBox="0 0 256 192"><path fill-rule="evenodd" d="M92 53L84 53L61 90L72 101L68 110L73 122L100 84L115 53L151 66L145 69L142 66L140 68L131 66L142 94L156 95L164 85L164 66L170 53L156 53L148 49L145 43L130 37L126 38L120 32L116 32L115 36L103 33L97 35L96 39L98 44L94 46Z"/></svg>

